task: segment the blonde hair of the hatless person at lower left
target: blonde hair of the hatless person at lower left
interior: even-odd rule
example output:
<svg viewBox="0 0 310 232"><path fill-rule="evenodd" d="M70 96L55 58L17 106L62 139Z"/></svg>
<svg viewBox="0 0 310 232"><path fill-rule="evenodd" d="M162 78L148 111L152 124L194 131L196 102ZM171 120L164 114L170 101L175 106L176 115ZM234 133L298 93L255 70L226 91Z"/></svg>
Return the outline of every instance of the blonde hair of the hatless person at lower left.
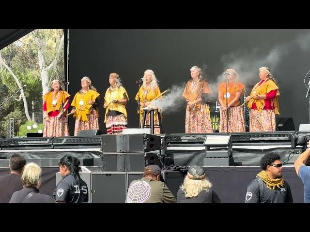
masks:
<svg viewBox="0 0 310 232"><path fill-rule="evenodd" d="M30 188L37 186L40 180L41 172L41 168L36 163L27 163L21 176L23 186Z"/></svg>

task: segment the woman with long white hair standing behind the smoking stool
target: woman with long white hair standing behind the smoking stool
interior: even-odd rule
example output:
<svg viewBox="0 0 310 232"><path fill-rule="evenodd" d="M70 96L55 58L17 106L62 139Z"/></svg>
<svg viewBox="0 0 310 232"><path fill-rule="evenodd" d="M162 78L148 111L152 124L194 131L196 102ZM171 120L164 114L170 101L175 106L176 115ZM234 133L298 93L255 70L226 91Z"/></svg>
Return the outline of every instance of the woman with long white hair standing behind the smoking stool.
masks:
<svg viewBox="0 0 310 232"><path fill-rule="evenodd" d="M153 99L158 97L160 95L160 90L158 87L158 82L156 79L156 76L154 72L150 69L146 70L144 72L143 76L143 84L140 87L137 95L136 95L136 101L140 99L140 109L139 109L139 116L140 116L140 124L141 127L143 126L143 108L147 107ZM145 121L147 125L151 125L151 114L147 113L145 116ZM156 112L154 112L154 124L159 125L158 122L158 115ZM159 126L154 127L154 133L160 134L160 128Z"/></svg>

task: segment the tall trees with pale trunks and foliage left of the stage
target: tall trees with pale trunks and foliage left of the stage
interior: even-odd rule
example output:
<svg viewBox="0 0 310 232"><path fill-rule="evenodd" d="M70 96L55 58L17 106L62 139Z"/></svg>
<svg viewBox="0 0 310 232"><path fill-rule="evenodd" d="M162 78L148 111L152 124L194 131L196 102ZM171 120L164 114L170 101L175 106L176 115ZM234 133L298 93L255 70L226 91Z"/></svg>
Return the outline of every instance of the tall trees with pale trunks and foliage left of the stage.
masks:
<svg viewBox="0 0 310 232"><path fill-rule="evenodd" d="M15 112L13 116L16 120L19 115L17 112L25 112L20 119L21 124L26 120L32 121L31 108L34 121L42 122L42 94L48 91L51 79L64 80L63 42L62 29L37 29L0 50L2 100L27 85L19 97L15 96L1 107L2 124L12 112ZM4 129L5 126L0 128ZM18 128L15 128L15 131L17 130ZM5 135L5 131L1 130L1 135Z"/></svg>

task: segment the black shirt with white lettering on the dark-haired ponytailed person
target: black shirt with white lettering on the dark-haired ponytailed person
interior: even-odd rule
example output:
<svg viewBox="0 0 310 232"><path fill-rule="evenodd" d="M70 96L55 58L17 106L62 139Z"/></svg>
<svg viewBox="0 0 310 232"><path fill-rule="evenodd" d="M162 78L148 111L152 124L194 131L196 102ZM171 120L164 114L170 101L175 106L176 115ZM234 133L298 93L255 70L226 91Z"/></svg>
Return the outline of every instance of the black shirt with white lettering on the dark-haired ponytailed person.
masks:
<svg viewBox="0 0 310 232"><path fill-rule="evenodd" d="M56 202L88 202L87 184L80 179L80 186L78 186L78 182L74 176L69 173L62 177L62 180L58 183L53 195Z"/></svg>

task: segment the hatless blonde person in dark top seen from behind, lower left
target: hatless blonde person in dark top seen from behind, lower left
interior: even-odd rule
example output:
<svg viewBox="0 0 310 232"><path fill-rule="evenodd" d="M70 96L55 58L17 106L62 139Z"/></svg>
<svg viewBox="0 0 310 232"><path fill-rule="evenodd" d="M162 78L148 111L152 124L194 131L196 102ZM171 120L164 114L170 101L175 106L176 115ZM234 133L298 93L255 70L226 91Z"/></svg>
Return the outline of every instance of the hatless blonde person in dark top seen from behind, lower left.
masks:
<svg viewBox="0 0 310 232"><path fill-rule="evenodd" d="M39 191L41 168L36 163L27 163L21 176L23 189L13 193L9 203L55 203L51 196Z"/></svg>

